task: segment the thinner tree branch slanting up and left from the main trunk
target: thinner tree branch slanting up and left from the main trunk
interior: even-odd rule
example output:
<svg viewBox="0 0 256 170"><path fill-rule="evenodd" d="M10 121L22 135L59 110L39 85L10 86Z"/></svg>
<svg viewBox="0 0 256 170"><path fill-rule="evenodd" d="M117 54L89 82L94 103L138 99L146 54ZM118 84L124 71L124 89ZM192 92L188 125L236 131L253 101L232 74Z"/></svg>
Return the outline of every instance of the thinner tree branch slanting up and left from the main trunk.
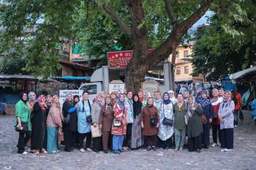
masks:
<svg viewBox="0 0 256 170"><path fill-rule="evenodd" d="M118 15L116 15L115 12L113 12L110 7L108 7L105 3L101 4L98 0L94 0L94 2L101 7L105 12L108 13L108 15L110 15L111 18L113 18L113 20L116 21L116 23L118 24L118 26L120 26L121 30L124 31L124 34L126 34L129 37L132 37L132 31L128 28L128 26L124 23L123 20L121 20L120 17L118 17Z"/></svg>

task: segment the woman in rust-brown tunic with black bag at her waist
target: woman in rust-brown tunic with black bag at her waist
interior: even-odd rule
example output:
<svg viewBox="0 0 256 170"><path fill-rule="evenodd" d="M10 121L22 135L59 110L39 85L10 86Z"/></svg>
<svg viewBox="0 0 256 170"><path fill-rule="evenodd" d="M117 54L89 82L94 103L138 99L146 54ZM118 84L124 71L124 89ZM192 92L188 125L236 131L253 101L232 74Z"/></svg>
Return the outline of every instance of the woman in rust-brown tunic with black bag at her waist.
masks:
<svg viewBox="0 0 256 170"><path fill-rule="evenodd" d="M157 107L154 107L153 98L148 98L146 107L143 107L140 121L147 143L147 151L156 150L159 116Z"/></svg>

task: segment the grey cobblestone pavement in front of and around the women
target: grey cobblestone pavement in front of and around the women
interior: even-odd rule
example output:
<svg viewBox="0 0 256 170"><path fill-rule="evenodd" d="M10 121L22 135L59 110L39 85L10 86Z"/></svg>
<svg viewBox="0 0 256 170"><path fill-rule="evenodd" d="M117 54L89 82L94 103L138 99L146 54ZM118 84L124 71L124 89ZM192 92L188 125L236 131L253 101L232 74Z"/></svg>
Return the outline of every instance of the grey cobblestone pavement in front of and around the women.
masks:
<svg viewBox="0 0 256 170"><path fill-rule="evenodd" d="M249 114L235 128L233 152L211 147L202 152L147 152L134 150L121 155L103 152L61 152L55 154L17 154L18 133L14 117L0 117L0 169L256 169L256 126Z"/></svg>

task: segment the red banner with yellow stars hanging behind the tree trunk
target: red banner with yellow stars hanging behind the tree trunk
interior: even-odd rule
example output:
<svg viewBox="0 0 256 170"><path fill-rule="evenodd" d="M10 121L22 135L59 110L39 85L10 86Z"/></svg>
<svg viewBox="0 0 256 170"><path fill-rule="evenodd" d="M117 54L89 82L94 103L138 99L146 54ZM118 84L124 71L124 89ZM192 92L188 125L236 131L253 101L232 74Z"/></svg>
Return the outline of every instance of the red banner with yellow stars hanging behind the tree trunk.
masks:
<svg viewBox="0 0 256 170"><path fill-rule="evenodd" d="M148 49L147 53L151 53L153 49ZM125 69L127 64L133 57L133 50L108 52L108 68L109 69Z"/></svg>

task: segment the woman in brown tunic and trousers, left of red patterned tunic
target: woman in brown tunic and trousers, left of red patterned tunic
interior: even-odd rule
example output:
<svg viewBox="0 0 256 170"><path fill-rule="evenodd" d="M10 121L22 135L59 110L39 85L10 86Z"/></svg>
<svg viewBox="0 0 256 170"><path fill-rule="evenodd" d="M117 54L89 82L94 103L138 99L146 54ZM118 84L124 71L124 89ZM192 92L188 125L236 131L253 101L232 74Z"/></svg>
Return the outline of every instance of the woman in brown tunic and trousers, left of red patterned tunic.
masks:
<svg viewBox="0 0 256 170"><path fill-rule="evenodd" d="M113 123L113 104L110 98L105 98L105 105L100 109L99 128L102 129L102 147L105 153L108 153L110 144L112 144L111 128Z"/></svg>

